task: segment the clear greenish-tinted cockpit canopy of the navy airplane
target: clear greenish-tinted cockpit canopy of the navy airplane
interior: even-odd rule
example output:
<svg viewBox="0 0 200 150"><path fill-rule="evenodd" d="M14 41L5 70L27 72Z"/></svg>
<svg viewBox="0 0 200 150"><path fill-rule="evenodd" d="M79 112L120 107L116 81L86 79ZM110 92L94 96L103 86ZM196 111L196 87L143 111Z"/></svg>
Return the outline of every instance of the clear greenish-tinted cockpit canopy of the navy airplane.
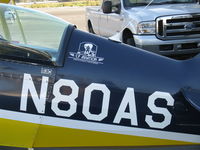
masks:
<svg viewBox="0 0 200 150"><path fill-rule="evenodd" d="M35 56L31 59L46 59L40 57L40 54L43 56L46 54L52 62L56 62L61 39L68 25L67 22L45 13L0 4L0 36L6 40L6 43L0 42L0 50L2 47L5 49L6 45L10 51L12 47L18 47L19 55L16 56L12 52L9 55L24 57L25 55L20 56L21 48L23 54L29 53L27 57L30 54Z"/></svg>

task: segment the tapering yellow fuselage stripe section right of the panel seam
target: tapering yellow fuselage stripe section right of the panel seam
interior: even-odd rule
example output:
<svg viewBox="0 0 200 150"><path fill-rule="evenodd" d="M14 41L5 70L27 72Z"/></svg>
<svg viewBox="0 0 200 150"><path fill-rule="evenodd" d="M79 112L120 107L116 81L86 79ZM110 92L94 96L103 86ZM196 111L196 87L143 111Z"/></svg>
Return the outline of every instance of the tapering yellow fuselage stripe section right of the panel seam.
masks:
<svg viewBox="0 0 200 150"><path fill-rule="evenodd" d="M192 143L42 125L35 147L160 146Z"/></svg>

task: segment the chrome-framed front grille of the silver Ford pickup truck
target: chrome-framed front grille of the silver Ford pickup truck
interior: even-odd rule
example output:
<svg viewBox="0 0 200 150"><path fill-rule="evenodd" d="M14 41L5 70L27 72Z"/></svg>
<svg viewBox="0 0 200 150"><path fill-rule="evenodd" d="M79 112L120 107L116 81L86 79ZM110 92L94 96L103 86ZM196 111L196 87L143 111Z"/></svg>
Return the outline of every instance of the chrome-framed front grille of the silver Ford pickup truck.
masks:
<svg viewBox="0 0 200 150"><path fill-rule="evenodd" d="M200 37L200 14L159 17L156 35L162 40Z"/></svg>

